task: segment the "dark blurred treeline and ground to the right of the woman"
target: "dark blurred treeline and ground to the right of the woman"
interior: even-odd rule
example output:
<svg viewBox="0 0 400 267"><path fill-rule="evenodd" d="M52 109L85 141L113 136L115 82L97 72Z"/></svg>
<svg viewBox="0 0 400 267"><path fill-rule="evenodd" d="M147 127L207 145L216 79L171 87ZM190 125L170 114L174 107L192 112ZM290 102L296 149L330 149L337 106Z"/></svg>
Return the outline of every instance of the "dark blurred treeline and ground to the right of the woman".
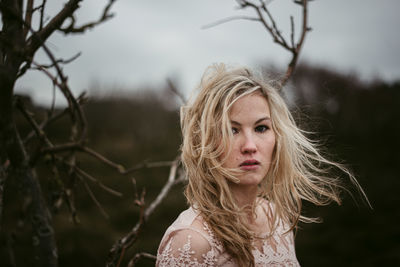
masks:
<svg viewBox="0 0 400 267"><path fill-rule="evenodd" d="M393 266L400 263L400 82L361 82L356 75L300 66L293 77L306 129L345 162L373 210L357 192L341 207L313 208L324 223L301 225L297 254L304 266Z"/></svg>

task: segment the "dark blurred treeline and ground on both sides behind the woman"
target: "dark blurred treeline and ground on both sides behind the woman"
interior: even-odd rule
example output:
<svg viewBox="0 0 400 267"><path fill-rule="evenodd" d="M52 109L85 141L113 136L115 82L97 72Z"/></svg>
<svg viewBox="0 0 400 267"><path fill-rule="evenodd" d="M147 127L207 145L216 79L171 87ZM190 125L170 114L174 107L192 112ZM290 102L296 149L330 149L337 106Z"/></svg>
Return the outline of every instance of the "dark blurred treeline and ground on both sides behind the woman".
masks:
<svg viewBox="0 0 400 267"><path fill-rule="evenodd" d="M296 237L300 263L303 266L399 264L400 181L396 166L400 151L400 82L366 83L355 75L303 65L296 70L287 90L293 92L291 99L298 123L314 132L310 137L323 140L325 152L331 158L353 170L373 206L369 209L351 186L349 193L343 193L342 206L310 207L305 203L305 212L321 216L324 222L300 225ZM25 100L29 102L28 98ZM88 144L126 167L144 160L173 160L179 154L181 141L175 102L164 91L139 91L129 97L94 97L85 105ZM42 108L33 108L37 118L44 116ZM26 124L22 118L18 121L21 126ZM51 125L50 130L54 139L67 136L68 129L62 120ZM52 207L60 266L104 266L112 244L138 219L132 178L139 191L146 188L146 201L150 202L167 179L168 168L144 169L122 176L88 156L82 156L79 165L123 193L123 197L109 195L88 182L109 215L106 219L80 182L55 177L46 162L41 163L38 177ZM72 222L67 205L57 197L62 194L57 181L67 188L71 184L70 189L75 192L78 224ZM1 265L10 266L10 254L14 254L17 266L35 266L26 260L31 258L27 255L32 254L30 248L35 240L29 239L29 224L24 224L24 203L16 202L12 193L19 189L12 180L6 186L13 190L7 190L4 199ZM142 251L155 254L166 227L185 206L182 186L178 185L150 218L129 255ZM139 262L139 266L153 265L146 260Z"/></svg>

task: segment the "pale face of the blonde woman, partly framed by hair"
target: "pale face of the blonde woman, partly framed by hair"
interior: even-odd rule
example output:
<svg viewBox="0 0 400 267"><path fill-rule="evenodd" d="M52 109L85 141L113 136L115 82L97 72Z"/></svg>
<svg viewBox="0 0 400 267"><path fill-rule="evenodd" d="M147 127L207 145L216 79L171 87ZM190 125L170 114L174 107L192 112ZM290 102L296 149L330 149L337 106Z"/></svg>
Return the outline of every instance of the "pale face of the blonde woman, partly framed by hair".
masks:
<svg viewBox="0 0 400 267"><path fill-rule="evenodd" d="M268 101L258 92L241 97L229 119L233 141L223 166L243 171L239 184L258 185L268 173L275 147Z"/></svg>

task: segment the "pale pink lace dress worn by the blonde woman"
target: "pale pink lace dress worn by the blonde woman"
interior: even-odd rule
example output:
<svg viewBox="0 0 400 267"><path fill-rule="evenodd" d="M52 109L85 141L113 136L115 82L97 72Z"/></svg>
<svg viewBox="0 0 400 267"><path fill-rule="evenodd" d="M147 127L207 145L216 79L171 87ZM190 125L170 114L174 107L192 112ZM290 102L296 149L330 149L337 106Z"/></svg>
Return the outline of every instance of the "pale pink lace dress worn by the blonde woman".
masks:
<svg viewBox="0 0 400 267"><path fill-rule="evenodd" d="M286 231L280 224L272 237L257 241L253 250L256 266L300 266L294 249L293 233ZM201 216L189 208L165 232L158 248L156 266L238 265L224 251Z"/></svg>

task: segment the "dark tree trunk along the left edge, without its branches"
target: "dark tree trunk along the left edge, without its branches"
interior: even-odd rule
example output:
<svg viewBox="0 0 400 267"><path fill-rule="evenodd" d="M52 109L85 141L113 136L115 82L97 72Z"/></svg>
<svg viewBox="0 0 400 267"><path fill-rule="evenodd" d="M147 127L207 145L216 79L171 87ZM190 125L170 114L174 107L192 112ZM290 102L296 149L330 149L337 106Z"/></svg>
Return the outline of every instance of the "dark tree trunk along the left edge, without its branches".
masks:
<svg viewBox="0 0 400 267"><path fill-rule="evenodd" d="M0 189L4 180L16 179L22 196L30 199L29 219L40 266L57 266L57 247L49 210L42 198L34 166L20 139L13 115L13 94L18 71L24 62L22 1L1 0L3 28L0 38ZM9 165L4 171L4 166ZM7 190L7 188L5 188ZM3 192L0 196L3 198ZM0 202L0 212L2 203ZM0 215L1 218L1 215Z"/></svg>

